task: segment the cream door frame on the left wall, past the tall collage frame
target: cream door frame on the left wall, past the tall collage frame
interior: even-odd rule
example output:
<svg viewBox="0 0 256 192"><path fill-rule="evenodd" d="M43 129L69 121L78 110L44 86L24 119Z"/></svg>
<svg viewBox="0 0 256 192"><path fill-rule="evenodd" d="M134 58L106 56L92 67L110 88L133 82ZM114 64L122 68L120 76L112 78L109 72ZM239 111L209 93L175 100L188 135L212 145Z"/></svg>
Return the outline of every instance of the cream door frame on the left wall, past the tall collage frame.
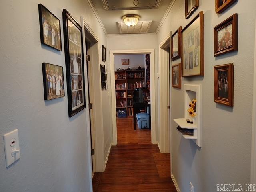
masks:
<svg viewBox="0 0 256 192"><path fill-rule="evenodd" d="M97 117L93 118L93 125L94 127L91 127L93 129L93 133L94 135L92 135L92 137L94 137L94 150L95 150L95 155L94 155L94 161L93 162L93 167L94 170L93 172L104 172L105 170L105 159L104 159L104 135L103 135L103 114L102 114L102 92L101 92L101 86L100 86L100 50L101 47L99 45L99 38L97 37L97 35L92 31L91 27L88 25L88 23L84 20L83 17L81 17L81 26L83 29L83 39L85 39L85 28L86 30L90 33L90 35L94 38L94 45L92 45L91 49L90 49L90 60L92 61L91 63L94 63L94 65L91 66L92 68L92 73L93 73L93 78L92 78L92 90L90 90L90 93L92 95L92 104L93 104L93 116ZM85 40L83 42L83 46L85 47ZM84 61L85 61L85 66L88 65L88 63L86 62L86 53L85 53L85 49L84 49ZM87 67L84 67L85 69L85 92L86 92L86 106L88 106L89 104L89 100L88 100L88 78L87 78ZM90 156L88 158L88 162L89 165L92 164L92 158L91 158L91 143L90 143L90 121L88 121L90 119L90 115L89 115L89 108L86 107L86 127L87 127L87 140L88 140L88 156ZM92 178L92 170L91 170L91 166L89 167L90 170L90 182L91 182L91 178Z"/></svg>

